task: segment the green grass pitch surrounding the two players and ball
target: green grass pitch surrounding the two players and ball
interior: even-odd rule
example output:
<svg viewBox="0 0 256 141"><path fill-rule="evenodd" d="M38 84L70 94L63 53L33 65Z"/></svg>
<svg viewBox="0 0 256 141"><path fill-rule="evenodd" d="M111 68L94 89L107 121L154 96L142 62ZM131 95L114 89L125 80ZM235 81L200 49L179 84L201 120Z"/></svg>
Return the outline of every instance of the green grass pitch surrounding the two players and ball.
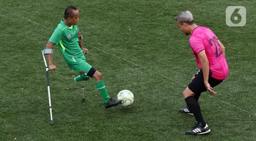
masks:
<svg viewBox="0 0 256 141"><path fill-rule="evenodd" d="M255 1L14 1L0 0L0 140L255 140ZM94 80L74 83L59 50L50 72L54 125L50 125L44 62L40 51L67 5L80 9L87 56L112 96L134 93L130 108L105 109ZM225 9L243 5L247 23L225 24ZM197 72L188 38L174 16L193 12L226 46L229 77L203 93L200 104L212 132L186 136L195 119L177 110L182 91ZM129 30L130 29L130 30ZM82 103L81 86L86 87Z"/></svg>

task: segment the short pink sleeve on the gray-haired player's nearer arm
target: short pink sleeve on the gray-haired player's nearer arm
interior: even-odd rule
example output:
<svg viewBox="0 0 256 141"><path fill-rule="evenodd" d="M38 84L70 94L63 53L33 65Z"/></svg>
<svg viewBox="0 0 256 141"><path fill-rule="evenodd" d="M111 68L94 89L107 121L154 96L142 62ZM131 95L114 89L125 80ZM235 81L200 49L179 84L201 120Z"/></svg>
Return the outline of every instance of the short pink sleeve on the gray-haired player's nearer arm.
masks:
<svg viewBox="0 0 256 141"><path fill-rule="evenodd" d="M190 38L189 43L194 54L199 54L199 52L204 50L203 42L197 37Z"/></svg>

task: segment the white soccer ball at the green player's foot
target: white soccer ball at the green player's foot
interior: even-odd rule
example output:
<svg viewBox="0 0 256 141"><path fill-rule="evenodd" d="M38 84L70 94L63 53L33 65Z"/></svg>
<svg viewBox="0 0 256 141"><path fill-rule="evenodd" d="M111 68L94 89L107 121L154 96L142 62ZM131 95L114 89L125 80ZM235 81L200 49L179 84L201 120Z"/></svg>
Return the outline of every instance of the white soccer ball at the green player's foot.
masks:
<svg viewBox="0 0 256 141"><path fill-rule="evenodd" d="M124 89L117 94L117 99L123 100L123 102L121 103L122 106L129 106L133 103L134 96L132 92L130 92L128 89Z"/></svg>

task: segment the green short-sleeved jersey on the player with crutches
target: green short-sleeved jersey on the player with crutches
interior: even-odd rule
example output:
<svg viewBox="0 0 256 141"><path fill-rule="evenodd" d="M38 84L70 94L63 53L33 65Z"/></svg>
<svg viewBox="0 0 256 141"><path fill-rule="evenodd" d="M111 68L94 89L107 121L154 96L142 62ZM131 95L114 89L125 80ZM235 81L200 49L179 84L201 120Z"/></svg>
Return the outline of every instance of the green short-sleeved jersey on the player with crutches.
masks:
<svg viewBox="0 0 256 141"><path fill-rule="evenodd" d="M61 20L49 39L50 42L59 47L63 58L70 68L76 67L79 60L85 59L83 50L79 46L78 33L78 26L72 25L69 27Z"/></svg>

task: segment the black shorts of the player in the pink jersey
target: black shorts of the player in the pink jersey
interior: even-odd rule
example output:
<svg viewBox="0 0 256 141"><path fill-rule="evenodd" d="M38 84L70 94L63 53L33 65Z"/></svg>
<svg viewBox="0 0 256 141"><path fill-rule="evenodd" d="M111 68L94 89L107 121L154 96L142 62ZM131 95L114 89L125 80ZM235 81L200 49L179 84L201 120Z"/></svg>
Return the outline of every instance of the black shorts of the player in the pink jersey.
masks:
<svg viewBox="0 0 256 141"><path fill-rule="evenodd" d="M211 87L215 87L216 85L223 82L223 80L214 79L212 77L212 72L209 73L208 82L210 83ZM195 79L193 79L189 84L188 88L195 94L201 94L201 92L207 91L205 85L203 83L203 71L200 70L195 75Z"/></svg>

